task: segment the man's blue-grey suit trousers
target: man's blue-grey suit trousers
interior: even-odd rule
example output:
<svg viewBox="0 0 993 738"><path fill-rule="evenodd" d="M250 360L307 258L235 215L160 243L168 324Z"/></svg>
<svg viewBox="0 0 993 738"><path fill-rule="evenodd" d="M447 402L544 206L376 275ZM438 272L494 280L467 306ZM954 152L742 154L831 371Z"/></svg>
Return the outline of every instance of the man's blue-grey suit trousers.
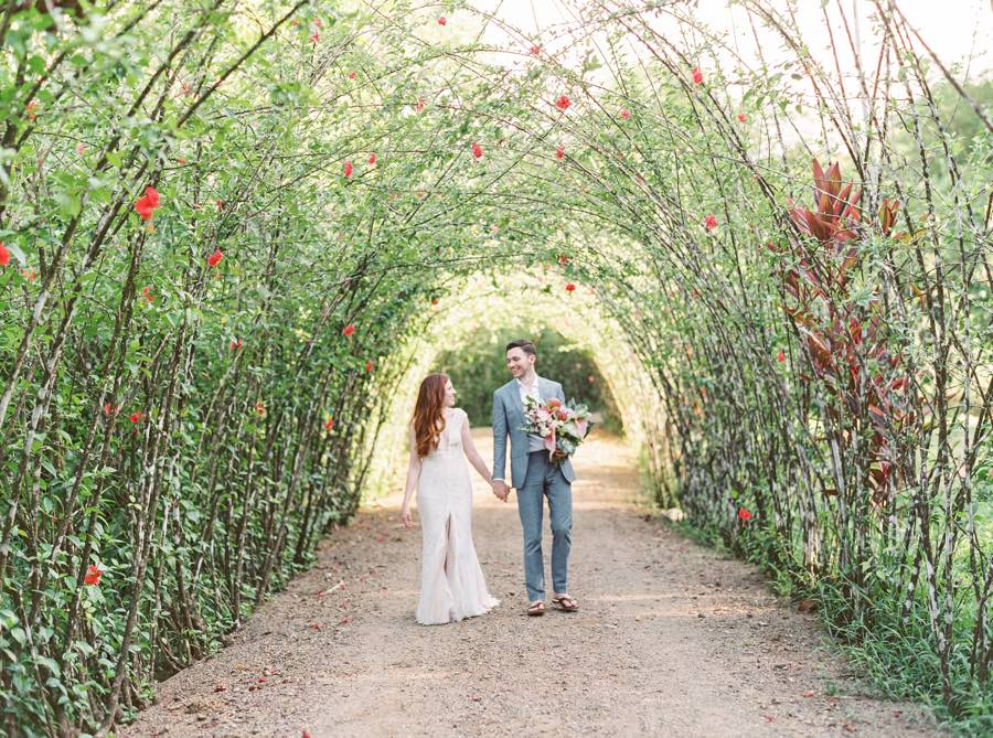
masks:
<svg viewBox="0 0 993 738"><path fill-rule="evenodd" d="M569 548L573 544L573 488L547 451L527 454L527 474L517 488L517 512L524 531L524 584L527 601L545 599L545 564L542 557L542 514L548 498L552 522L552 587L559 595L568 589Z"/></svg>

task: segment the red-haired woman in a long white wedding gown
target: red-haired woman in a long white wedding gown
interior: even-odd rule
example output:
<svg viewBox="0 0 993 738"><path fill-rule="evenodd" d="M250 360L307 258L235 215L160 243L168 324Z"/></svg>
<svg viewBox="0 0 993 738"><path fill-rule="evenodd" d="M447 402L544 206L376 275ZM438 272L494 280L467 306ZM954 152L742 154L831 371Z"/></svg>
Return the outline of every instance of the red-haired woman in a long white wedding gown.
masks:
<svg viewBox="0 0 993 738"><path fill-rule="evenodd" d="M487 483L491 477L455 396L447 375L429 374L420 383L410 424L410 463L401 515L404 525L414 526L410 498L416 488L424 530L416 617L425 625L472 618L500 603L487 591L472 545L472 485L462 453Z"/></svg>

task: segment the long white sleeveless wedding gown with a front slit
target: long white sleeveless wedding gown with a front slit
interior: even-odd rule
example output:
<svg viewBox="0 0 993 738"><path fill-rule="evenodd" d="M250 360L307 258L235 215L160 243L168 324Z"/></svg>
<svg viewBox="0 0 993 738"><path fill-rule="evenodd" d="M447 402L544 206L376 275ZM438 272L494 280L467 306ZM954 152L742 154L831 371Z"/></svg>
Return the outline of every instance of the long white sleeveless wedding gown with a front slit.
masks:
<svg viewBox="0 0 993 738"><path fill-rule="evenodd" d="M438 448L421 460L417 511L424 530L417 622L435 625L483 614L500 603L487 591L472 544L472 484L462 451L466 411L446 408Z"/></svg>

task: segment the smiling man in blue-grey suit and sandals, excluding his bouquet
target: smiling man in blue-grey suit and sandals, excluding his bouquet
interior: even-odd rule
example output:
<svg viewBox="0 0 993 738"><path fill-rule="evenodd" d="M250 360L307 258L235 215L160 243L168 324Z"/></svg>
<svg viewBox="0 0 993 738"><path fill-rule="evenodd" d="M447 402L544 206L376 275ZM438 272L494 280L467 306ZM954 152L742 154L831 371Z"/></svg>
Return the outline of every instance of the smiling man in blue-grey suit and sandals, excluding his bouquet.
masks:
<svg viewBox="0 0 993 738"><path fill-rule="evenodd" d="M576 474L568 457L555 452L548 459L544 439L521 430L524 398L538 402L557 397L565 404L562 385L534 371L534 344L519 339L506 344L506 367L514 378L493 393L493 494L506 502L506 438L511 439L511 484L517 490L517 512L524 528L524 581L527 614L545 614L545 561L542 557L542 513L548 498L552 521L552 601L566 612L579 605L568 595L569 546L573 528L573 488Z"/></svg>

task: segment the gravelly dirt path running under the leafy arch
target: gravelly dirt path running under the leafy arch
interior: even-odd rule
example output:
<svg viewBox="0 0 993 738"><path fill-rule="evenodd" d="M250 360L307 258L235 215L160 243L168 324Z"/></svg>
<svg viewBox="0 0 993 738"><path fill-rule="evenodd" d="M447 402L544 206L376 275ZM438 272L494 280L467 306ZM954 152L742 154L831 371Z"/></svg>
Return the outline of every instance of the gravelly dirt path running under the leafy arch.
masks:
<svg viewBox="0 0 993 738"><path fill-rule="evenodd" d="M477 443L489 451L485 431ZM476 544L503 600L491 614L414 622L420 531L392 499L325 539L310 571L120 735L935 735L920 710L861 696L814 618L754 567L647 520L624 447L594 439L577 473L579 612L524 614L515 499L473 472Z"/></svg>

